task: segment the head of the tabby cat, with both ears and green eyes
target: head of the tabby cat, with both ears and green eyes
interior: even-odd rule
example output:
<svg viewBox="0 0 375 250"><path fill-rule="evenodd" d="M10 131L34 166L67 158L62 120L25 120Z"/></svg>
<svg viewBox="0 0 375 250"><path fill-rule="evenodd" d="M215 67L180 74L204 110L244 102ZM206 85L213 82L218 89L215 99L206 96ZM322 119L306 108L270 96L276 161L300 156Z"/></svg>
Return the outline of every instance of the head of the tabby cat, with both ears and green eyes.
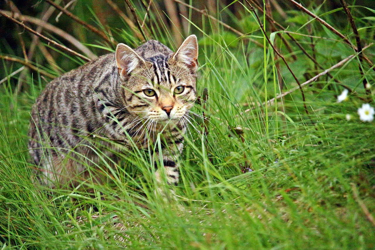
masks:
<svg viewBox="0 0 375 250"><path fill-rule="evenodd" d="M117 45L116 62L127 110L150 121L177 123L196 99L196 36L187 37L175 53L151 58L139 54L125 44Z"/></svg>

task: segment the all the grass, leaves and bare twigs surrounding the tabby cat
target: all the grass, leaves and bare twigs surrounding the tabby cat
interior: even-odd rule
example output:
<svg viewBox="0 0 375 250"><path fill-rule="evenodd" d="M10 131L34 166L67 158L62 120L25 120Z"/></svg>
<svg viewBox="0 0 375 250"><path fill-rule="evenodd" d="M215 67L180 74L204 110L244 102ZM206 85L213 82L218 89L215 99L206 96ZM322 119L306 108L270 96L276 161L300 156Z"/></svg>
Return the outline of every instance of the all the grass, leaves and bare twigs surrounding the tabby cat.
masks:
<svg viewBox="0 0 375 250"><path fill-rule="evenodd" d="M357 114L374 106L374 9L1 0L0 249L374 249L375 123ZM29 112L46 83L118 42L175 50L190 34L200 98L176 201L153 193L148 152L131 150L108 185L83 182L93 193L33 185Z"/></svg>

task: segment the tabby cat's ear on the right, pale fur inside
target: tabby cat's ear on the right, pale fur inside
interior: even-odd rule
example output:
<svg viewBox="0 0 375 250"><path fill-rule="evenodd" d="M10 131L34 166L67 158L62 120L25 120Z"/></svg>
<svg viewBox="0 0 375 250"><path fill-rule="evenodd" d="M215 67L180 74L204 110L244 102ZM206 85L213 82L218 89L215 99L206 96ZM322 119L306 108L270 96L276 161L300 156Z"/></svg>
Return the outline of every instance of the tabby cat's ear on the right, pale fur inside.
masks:
<svg viewBox="0 0 375 250"><path fill-rule="evenodd" d="M196 71L198 68L198 41L195 35L188 36L178 48L173 58L185 63L190 69Z"/></svg>

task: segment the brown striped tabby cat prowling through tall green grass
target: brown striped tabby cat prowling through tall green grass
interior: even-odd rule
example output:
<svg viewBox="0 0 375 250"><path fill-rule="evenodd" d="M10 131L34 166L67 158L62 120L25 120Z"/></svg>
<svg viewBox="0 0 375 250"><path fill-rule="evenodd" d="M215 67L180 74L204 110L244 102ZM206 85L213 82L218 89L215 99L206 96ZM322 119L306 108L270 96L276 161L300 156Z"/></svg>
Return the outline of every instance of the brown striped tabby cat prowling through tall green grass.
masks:
<svg viewBox="0 0 375 250"><path fill-rule="evenodd" d="M81 155L93 166L100 164L88 138L145 149L155 144L153 135L161 133L163 161L155 166L164 169L157 169L155 178L157 183L177 185L187 112L196 100L197 57L195 35L175 53L155 40L135 50L120 43L115 53L48 83L33 106L28 134L36 181L56 188L77 186L90 178L87 165L77 160ZM101 144L121 150L121 145L108 140ZM106 154L115 158L111 150Z"/></svg>

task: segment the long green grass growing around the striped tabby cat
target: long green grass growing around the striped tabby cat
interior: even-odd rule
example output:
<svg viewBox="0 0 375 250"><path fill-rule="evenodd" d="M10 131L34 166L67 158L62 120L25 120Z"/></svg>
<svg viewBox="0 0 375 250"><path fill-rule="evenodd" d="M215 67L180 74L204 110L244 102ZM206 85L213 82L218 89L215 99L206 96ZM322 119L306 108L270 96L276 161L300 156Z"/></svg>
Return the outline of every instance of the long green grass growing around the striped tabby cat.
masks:
<svg viewBox="0 0 375 250"><path fill-rule="evenodd" d="M254 18L246 15L238 25L252 23L254 30L247 32L262 43ZM370 27L370 21L362 26ZM312 23L315 36L336 39ZM93 192L33 185L29 112L46 81L30 74L17 95L10 80L1 84L0 249L375 248L374 225L360 205L375 215L375 123L361 122L356 113L360 97L366 98L357 57L332 71L335 80L357 92L347 101L336 102L343 88L321 77L304 87L309 115L299 90L258 107L280 93L277 74L284 79L284 91L297 86L283 62L273 60L268 44L263 50L246 39L234 40L207 20L190 25L199 36L198 95L208 90L205 107L202 102L193 111L203 111L210 122L192 120L196 129L190 126L186 135L176 201L154 194L152 159L148 152L131 149L122 153L123 162L103 173L108 184L83 183ZM157 29L159 39L170 45L165 27ZM363 41L372 41L370 30L362 34ZM317 72L293 49L297 61L282 47L302 83L304 75ZM315 51L324 68L354 53L342 42L323 39L315 41ZM366 53L371 59L374 47ZM374 71L362 66L373 83ZM110 161L103 156L103 166Z"/></svg>

